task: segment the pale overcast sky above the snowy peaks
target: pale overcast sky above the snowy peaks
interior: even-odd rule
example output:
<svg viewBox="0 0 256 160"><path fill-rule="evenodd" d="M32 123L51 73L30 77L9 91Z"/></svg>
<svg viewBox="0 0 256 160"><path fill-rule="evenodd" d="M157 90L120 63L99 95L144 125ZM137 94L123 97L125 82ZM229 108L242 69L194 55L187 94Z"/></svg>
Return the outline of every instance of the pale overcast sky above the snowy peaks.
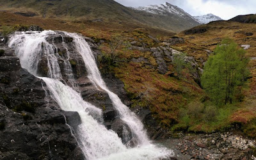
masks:
<svg viewBox="0 0 256 160"><path fill-rule="evenodd" d="M221 19L231 19L236 15L256 13L256 0L115 0L124 6L148 6L168 2L179 6L191 15L212 13Z"/></svg>

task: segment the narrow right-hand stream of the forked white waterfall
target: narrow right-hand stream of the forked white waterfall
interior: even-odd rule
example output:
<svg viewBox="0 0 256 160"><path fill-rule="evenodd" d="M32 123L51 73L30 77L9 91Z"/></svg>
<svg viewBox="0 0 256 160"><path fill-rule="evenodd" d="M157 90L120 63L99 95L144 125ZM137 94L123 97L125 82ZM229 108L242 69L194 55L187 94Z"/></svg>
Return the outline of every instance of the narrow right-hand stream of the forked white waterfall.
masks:
<svg viewBox="0 0 256 160"><path fill-rule="evenodd" d="M66 33L66 35L74 38L76 49L83 57L84 64L86 65L86 68L88 70L88 77L95 84L95 86L105 90L108 93L110 99L112 100L113 106L120 115L120 118L124 120L127 125L129 125L132 133L136 135L139 145L149 144L147 134L143 129L143 124L141 123L141 121L134 113L130 111L129 108L127 108L127 106L122 103L122 101L115 93L108 90L106 84L100 76L99 68L97 67L97 64L95 62L95 58L90 49L90 45L88 45L88 43L84 40L82 36L79 36L76 33Z"/></svg>

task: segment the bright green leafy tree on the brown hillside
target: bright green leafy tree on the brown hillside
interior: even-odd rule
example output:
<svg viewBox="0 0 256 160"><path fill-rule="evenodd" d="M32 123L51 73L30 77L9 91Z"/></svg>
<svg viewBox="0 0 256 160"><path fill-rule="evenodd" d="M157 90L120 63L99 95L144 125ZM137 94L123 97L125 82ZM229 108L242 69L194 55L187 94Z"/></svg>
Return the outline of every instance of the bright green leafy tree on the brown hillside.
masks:
<svg viewBox="0 0 256 160"><path fill-rule="evenodd" d="M241 86L250 74L244 54L244 49L227 38L205 64L202 86L216 104L231 104L236 93L241 93Z"/></svg>

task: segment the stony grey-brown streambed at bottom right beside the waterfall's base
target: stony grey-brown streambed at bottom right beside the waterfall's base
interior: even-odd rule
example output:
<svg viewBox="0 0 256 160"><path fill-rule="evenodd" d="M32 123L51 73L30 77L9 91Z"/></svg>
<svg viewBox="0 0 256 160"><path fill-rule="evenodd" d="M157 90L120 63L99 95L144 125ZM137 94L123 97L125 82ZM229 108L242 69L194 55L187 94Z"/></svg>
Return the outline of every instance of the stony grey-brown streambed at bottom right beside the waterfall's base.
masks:
<svg viewBox="0 0 256 160"><path fill-rule="evenodd" d="M234 129L212 134L179 133L177 138L157 143L174 150L176 159L256 159L256 141L244 138Z"/></svg>

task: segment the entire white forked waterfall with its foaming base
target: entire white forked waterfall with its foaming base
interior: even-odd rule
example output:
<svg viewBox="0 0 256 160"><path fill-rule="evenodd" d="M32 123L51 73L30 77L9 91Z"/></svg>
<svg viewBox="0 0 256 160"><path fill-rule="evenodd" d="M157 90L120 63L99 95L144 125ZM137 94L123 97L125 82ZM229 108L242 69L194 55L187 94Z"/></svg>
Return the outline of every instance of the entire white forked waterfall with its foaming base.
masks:
<svg viewBox="0 0 256 160"><path fill-rule="evenodd" d="M65 111L77 111L79 113L82 123L78 126L77 134L79 135L78 139L79 143L81 143L84 156L87 159L159 159L170 156L172 151L150 143L140 120L127 106L122 104L115 93L108 90L106 84L100 77L100 72L90 46L84 40L83 36L67 32L62 32L62 34L74 39L74 47L83 57L84 64L89 73L89 79L97 88L105 90L108 93L113 106L118 111L122 120L130 127L133 135L139 142L137 147L125 147L115 132L106 129L104 125L100 124L99 119L102 119L101 110L85 102L81 95L74 90L76 88L73 84L73 88L71 88L61 83L61 72L60 66L58 65L58 58L60 56L56 53L57 47L46 40L49 35L58 35L58 33L55 31L15 33L10 38L9 47L15 49L15 53L20 58L22 67L37 76L38 61L42 55L45 55L48 61L49 77L51 78L39 78L45 81L47 88L51 91L52 98L58 102L61 109ZM67 47L65 48L67 49ZM70 63L68 61L65 61L65 63L67 63L64 65L65 69L68 70L65 74L70 74L69 78L72 78L72 72L70 72L69 68ZM127 129L124 129L123 134L128 135Z"/></svg>

